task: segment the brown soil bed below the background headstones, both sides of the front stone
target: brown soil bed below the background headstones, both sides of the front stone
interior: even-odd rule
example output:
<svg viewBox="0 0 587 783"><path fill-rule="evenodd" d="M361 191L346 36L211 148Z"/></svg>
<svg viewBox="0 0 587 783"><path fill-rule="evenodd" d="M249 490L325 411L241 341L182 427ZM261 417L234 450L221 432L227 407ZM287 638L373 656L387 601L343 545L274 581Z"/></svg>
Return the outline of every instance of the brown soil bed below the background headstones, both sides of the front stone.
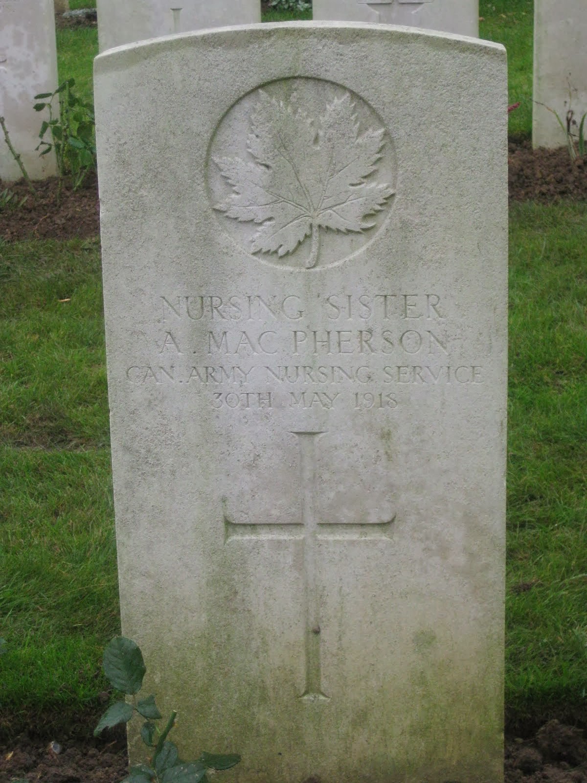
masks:
<svg viewBox="0 0 587 783"><path fill-rule="evenodd" d="M566 147L560 150L532 150L529 141L510 142L510 199L554 201L560 198L587 200L587 157L571 161ZM96 180L73 193L64 187L57 199L57 180L36 182L34 199L24 182L6 186L0 181L0 194L6 187L15 193L13 202L23 197L23 207L2 209L0 236L7 241L21 239L70 239L99 233L99 201Z"/></svg>

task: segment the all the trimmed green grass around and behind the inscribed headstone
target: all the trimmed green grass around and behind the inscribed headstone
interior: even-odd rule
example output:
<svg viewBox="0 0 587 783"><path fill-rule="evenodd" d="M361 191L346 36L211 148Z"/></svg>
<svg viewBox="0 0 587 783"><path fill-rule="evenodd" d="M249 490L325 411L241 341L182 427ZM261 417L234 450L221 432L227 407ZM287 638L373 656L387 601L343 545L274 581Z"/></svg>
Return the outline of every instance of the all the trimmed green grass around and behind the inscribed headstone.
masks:
<svg viewBox="0 0 587 783"><path fill-rule="evenodd" d="M481 34L508 47L519 135L531 6L481 2ZM58 43L60 78L90 98L96 31ZM587 204L511 207L506 702L519 730L585 714L585 247ZM119 630L98 240L0 240L0 283L0 736L54 734L102 709L101 652Z"/></svg>

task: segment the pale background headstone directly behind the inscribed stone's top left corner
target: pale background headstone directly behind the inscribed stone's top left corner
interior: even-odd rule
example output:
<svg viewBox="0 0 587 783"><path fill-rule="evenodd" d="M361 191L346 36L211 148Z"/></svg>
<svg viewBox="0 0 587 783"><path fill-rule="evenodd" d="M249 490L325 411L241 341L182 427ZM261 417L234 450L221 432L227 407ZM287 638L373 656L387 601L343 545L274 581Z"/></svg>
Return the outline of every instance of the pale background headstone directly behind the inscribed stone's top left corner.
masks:
<svg viewBox="0 0 587 783"><path fill-rule="evenodd" d="M261 0L97 0L100 52L204 27L261 21Z"/></svg>

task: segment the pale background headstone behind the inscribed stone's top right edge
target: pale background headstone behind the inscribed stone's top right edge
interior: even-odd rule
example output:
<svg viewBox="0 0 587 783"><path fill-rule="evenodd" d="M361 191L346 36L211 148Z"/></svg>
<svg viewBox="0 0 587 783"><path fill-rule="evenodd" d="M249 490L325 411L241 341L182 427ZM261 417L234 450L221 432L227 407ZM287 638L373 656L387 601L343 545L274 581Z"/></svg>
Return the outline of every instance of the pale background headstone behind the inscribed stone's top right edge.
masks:
<svg viewBox="0 0 587 783"><path fill-rule="evenodd" d="M313 0L315 20L380 22L479 34L479 0Z"/></svg>

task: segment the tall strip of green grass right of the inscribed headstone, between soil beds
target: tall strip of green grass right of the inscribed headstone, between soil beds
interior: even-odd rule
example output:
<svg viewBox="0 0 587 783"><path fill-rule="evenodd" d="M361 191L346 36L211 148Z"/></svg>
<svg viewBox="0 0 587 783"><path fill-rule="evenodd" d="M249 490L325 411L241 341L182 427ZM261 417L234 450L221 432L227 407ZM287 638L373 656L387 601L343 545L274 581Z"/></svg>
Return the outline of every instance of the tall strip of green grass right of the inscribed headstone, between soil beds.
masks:
<svg viewBox="0 0 587 783"><path fill-rule="evenodd" d="M511 208L507 702L587 701L587 204Z"/></svg>

